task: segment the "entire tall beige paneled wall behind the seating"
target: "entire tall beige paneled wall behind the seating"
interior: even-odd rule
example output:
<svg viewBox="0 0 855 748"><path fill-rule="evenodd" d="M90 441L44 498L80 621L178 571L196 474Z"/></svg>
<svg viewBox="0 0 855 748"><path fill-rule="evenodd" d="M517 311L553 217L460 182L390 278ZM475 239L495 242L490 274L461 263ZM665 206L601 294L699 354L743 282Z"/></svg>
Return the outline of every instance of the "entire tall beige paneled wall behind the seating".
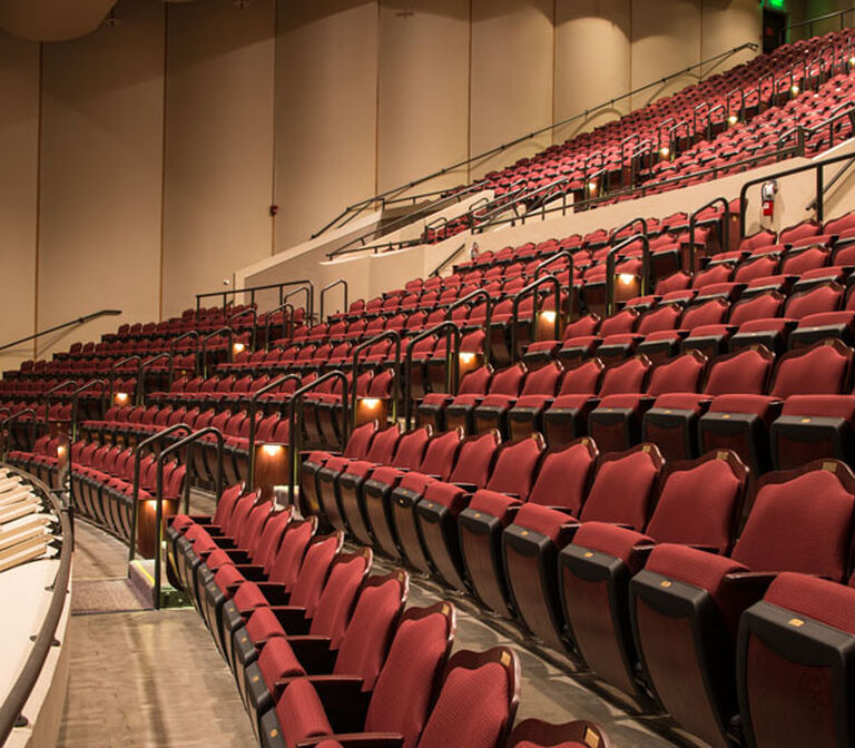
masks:
<svg viewBox="0 0 855 748"><path fill-rule="evenodd" d="M0 339L107 306L129 321L176 314L376 189L583 112L759 26L754 0L120 0L115 16L43 45L41 73L38 46L0 40L0 217L14 247L0 304L19 309L2 315Z"/></svg>

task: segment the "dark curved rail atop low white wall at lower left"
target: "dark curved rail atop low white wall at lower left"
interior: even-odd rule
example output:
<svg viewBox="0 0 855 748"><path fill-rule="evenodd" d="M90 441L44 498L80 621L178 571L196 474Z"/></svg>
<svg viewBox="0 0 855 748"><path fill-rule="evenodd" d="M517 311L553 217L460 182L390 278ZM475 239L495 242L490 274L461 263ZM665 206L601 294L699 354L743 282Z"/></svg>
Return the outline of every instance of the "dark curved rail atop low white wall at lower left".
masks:
<svg viewBox="0 0 855 748"><path fill-rule="evenodd" d="M7 465L7 468L9 466ZM0 745L7 741L12 729L14 729L16 722L21 719L22 710L41 676L41 669L45 667L48 652L50 652L51 647L57 641L57 629L62 619L66 601L68 600L68 585L71 579L71 555L73 551L70 509L63 506L56 498L56 494L35 476L14 468L10 468L10 470L28 480L51 503L53 513L59 519L62 544L59 550L59 564L53 583L47 588L51 592L50 604L39 627L39 632L33 639L32 649L27 656L27 660L13 686L9 689L9 693L2 705L0 705Z"/></svg>

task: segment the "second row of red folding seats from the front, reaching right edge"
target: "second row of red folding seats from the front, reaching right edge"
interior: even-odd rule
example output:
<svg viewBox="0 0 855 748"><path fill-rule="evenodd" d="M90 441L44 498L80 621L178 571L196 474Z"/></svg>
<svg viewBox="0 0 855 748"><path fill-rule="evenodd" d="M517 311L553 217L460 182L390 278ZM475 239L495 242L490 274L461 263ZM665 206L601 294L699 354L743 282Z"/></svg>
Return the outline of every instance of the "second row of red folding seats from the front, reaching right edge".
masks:
<svg viewBox="0 0 855 748"><path fill-rule="evenodd" d="M843 463L749 485L727 449L666 463L653 444L600 454L589 437L546 450L538 435L364 426L353 440L363 459L312 453L302 468L333 528L653 698L710 745L800 746L812 729L845 745L853 692L834 647L855 634L855 475ZM828 678L798 677L807 663Z"/></svg>

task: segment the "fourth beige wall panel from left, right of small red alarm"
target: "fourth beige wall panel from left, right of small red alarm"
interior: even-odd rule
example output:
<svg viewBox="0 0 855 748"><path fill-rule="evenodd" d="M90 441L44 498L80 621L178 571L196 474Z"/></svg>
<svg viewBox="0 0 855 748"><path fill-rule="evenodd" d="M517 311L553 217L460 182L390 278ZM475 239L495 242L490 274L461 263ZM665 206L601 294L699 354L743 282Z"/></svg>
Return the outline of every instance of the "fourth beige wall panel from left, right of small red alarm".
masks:
<svg viewBox="0 0 855 748"><path fill-rule="evenodd" d="M377 3L278 3L276 249L376 188Z"/></svg>

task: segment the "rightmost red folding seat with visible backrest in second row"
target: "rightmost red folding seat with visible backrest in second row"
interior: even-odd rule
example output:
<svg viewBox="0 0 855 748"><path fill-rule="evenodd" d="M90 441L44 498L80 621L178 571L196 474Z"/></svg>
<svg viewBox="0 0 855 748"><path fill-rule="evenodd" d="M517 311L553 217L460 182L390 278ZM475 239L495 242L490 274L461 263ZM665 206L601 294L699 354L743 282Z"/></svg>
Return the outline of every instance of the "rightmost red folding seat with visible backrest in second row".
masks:
<svg viewBox="0 0 855 748"><path fill-rule="evenodd" d="M854 520L855 475L823 461L757 482L729 557L672 543L652 550L630 582L632 630L646 682L682 727L712 746L730 745L743 611L779 572L843 581Z"/></svg>

